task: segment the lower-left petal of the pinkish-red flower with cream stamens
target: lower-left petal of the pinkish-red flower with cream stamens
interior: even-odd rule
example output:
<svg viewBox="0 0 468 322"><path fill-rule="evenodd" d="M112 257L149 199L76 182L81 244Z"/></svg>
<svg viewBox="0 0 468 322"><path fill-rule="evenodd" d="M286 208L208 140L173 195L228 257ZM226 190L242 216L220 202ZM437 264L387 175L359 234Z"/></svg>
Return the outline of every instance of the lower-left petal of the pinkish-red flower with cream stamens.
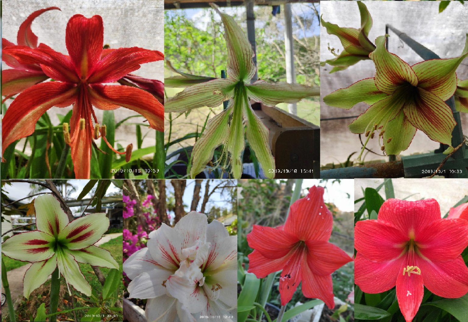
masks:
<svg viewBox="0 0 468 322"><path fill-rule="evenodd" d="M404 257L388 262L372 262L360 253L354 259L354 282L365 293L382 293L396 284L397 275L402 274Z"/></svg>

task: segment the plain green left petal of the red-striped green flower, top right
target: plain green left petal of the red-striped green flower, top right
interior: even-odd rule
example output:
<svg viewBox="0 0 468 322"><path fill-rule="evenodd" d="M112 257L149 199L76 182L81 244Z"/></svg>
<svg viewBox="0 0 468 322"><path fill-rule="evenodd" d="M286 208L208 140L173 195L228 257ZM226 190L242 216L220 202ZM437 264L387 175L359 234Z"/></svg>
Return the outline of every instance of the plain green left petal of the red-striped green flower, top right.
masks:
<svg viewBox="0 0 468 322"><path fill-rule="evenodd" d="M379 100L388 97L380 92L373 78L362 79L349 87L336 90L323 98L323 102L329 106L350 109L359 102L372 105Z"/></svg>

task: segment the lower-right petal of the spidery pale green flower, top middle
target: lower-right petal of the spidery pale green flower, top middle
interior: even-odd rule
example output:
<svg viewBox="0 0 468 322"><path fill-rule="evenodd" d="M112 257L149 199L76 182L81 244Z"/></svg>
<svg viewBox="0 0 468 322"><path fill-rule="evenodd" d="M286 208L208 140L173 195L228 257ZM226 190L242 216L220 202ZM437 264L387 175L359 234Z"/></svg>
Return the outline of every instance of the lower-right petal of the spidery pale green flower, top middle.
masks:
<svg viewBox="0 0 468 322"><path fill-rule="evenodd" d="M271 154L270 144L268 143L268 129L254 113L250 104L245 107L244 115L247 120L247 141L252 150L254 150L258 162L262 165L265 177L273 179L275 177L275 160Z"/></svg>

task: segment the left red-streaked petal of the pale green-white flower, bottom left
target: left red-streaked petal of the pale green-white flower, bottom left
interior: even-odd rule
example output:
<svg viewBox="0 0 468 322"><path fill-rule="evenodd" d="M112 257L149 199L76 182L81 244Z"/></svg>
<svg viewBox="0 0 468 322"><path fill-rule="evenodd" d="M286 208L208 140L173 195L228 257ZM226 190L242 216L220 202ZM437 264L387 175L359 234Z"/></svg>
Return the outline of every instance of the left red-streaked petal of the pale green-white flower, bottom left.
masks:
<svg viewBox="0 0 468 322"><path fill-rule="evenodd" d="M24 262L41 262L51 258L54 237L39 230L28 231L8 238L1 251L10 258Z"/></svg>

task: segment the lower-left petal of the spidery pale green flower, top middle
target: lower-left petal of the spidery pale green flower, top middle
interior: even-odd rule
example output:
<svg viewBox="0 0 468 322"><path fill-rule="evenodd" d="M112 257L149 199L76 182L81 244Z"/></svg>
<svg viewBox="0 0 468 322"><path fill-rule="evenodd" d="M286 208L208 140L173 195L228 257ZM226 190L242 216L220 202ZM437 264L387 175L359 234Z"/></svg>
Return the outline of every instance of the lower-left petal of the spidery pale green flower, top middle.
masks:
<svg viewBox="0 0 468 322"><path fill-rule="evenodd" d="M190 177L195 176L205 169L206 164L212 159L214 150L227 139L227 121L232 113L232 102L230 107L214 116L206 124L205 131L193 146L192 166Z"/></svg>

